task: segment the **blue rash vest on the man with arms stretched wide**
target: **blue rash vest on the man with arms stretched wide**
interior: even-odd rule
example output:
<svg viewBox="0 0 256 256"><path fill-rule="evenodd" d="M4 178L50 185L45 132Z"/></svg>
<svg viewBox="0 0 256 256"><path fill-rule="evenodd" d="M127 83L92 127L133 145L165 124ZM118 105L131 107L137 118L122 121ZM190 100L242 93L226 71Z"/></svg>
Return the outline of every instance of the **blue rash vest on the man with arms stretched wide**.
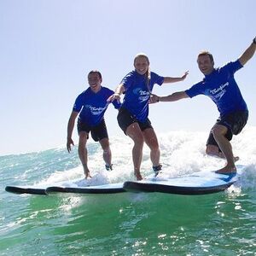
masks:
<svg viewBox="0 0 256 256"><path fill-rule="evenodd" d="M200 94L209 96L217 105L221 117L234 111L247 110L247 104L234 78L234 73L241 67L239 60L229 62L224 67L214 69L200 83L185 92L190 98Z"/></svg>

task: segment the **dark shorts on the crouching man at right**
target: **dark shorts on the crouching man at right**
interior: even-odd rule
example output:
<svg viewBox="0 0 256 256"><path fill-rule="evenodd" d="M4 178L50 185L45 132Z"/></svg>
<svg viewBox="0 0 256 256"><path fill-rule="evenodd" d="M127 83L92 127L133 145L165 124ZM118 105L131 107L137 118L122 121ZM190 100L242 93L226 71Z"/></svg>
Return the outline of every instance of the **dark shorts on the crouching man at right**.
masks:
<svg viewBox="0 0 256 256"><path fill-rule="evenodd" d="M224 115L222 118L217 119L215 125L224 125L228 128L225 137L230 141L234 135L241 132L243 127L247 124L248 111L236 111ZM207 145L215 145L218 147L218 143L215 141L212 131L210 131L207 139ZM219 148L218 148L219 149ZM219 149L220 151L220 149Z"/></svg>

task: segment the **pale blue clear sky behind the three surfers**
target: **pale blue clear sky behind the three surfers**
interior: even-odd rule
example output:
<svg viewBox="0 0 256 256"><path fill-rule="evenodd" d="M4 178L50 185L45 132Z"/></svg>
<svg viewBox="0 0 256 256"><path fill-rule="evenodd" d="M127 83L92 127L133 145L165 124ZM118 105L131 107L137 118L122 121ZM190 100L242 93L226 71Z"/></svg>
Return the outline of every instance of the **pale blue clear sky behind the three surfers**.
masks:
<svg viewBox="0 0 256 256"><path fill-rule="evenodd" d="M155 85L163 96L203 78L197 54L208 49L215 67L236 61L256 36L255 0L0 0L0 155L66 144L76 97L97 69L114 90L133 70L134 56L148 55L150 68L183 82ZM254 25L253 25L254 24ZM236 73L256 125L256 55ZM110 141L125 136L109 106ZM157 134L209 131L218 111L206 96L150 106ZM73 140L77 144L76 128ZM114 141L111 141L114 144Z"/></svg>

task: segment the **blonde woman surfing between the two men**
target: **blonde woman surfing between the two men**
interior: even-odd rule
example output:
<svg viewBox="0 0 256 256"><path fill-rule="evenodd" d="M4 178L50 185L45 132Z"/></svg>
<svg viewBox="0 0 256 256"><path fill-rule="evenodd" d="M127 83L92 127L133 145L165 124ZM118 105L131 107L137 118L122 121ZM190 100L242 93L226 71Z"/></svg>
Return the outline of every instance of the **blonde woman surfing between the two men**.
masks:
<svg viewBox="0 0 256 256"><path fill-rule="evenodd" d="M144 142L150 148L150 159L155 174L157 175L161 170L159 143L148 119L148 101L154 84L161 85L183 81L188 72L184 73L180 78L162 77L150 72L148 56L144 54L136 55L133 65L135 70L122 79L114 94L108 98L108 101L120 101L120 96L125 93L118 114L118 122L125 135L131 137L134 143L132 148L134 175L137 180L141 180L143 177L140 168L143 159Z"/></svg>

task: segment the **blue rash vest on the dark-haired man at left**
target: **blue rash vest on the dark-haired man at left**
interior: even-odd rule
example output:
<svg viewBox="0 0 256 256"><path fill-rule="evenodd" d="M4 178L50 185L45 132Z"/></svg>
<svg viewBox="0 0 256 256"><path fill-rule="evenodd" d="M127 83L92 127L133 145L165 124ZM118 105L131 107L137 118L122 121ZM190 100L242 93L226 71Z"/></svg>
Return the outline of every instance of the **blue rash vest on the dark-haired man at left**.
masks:
<svg viewBox="0 0 256 256"><path fill-rule="evenodd" d="M98 92L93 92L90 87L84 90L76 99L73 111L79 113L79 120L87 125L98 125L108 108L107 99L113 95L113 90L102 87ZM120 108L120 103L116 100L112 102L114 108Z"/></svg>

